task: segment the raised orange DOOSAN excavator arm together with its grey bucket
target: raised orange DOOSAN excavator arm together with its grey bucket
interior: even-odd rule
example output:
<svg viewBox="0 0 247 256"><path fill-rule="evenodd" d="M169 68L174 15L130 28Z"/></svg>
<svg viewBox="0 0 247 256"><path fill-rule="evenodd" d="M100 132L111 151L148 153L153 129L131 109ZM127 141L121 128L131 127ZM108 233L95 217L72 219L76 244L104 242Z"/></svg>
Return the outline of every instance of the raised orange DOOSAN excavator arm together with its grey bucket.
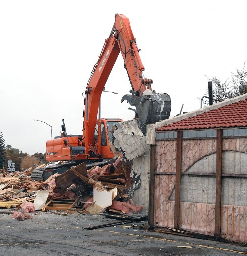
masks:
<svg viewBox="0 0 247 256"><path fill-rule="evenodd" d="M144 66L139 51L129 19L123 14L116 14L113 29L105 40L85 91L83 141L86 146L93 144L100 96L120 52L132 88L131 94L124 95L121 102L126 99L131 105L135 105L136 110L134 111L141 123L148 124L169 118L170 97L165 93L156 94L155 91L152 91L153 81L143 75ZM151 102L148 100L142 104L141 98L146 90L151 91Z"/></svg>

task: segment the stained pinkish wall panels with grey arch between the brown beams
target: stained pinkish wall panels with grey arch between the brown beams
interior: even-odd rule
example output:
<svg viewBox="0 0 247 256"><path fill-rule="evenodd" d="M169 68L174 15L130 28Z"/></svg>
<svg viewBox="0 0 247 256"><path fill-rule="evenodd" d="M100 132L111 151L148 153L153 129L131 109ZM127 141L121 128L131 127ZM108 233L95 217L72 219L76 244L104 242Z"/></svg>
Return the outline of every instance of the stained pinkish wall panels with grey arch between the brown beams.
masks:
<svg viewBox="0 0 247 256"><path fill-rule="evenodd" d="M176 140L156 142L153 223L174 228ZM247 138L225 138L222 146L220 236L246 243ZM182 140L181 229L214 235L215 176L216 140Z"/></svg>

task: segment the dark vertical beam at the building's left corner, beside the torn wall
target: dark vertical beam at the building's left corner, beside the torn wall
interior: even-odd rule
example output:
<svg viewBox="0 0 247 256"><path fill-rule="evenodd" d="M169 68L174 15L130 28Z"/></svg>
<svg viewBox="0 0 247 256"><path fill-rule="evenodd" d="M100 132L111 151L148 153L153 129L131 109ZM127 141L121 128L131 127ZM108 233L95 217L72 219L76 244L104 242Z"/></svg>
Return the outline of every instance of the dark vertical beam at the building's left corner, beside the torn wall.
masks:
<svg viewBox="0 0 247 256"><path fill-rule="evenodd" d="M150 146L150 173L149 173L149 215L148 223L149 228L154 228L154 206L155 206L155 154L156 154L156 145Z"/></svg>

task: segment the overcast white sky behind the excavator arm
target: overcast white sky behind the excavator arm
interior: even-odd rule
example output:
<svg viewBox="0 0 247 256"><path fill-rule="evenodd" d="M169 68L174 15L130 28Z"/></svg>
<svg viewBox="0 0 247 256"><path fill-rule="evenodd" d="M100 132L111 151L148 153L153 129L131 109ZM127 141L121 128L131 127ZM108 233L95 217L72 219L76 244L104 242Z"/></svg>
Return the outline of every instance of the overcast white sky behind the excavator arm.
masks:
<svg viewBox="0 0 247 256"><path fill-rule="evenodd" d="M224 81L247 60L247 1L0 0L0 132L32 155L60 134L82 133L83 97L116 13L129 18L152 89L171 97L171 115L200 108L209 77ZM120 55L101 117L133 118Z"/></svg>

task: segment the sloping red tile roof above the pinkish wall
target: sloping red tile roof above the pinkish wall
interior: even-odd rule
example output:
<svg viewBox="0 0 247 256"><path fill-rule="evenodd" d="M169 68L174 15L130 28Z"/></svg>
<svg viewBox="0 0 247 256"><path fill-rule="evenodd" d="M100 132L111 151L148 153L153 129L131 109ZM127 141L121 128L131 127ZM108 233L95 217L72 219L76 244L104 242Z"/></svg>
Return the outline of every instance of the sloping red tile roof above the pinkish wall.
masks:
<svg viewBox="0 0 247 256"><path fill-rule="evenodd" d="M247 99L157 128L158 131L247 126Z"/></svg>

